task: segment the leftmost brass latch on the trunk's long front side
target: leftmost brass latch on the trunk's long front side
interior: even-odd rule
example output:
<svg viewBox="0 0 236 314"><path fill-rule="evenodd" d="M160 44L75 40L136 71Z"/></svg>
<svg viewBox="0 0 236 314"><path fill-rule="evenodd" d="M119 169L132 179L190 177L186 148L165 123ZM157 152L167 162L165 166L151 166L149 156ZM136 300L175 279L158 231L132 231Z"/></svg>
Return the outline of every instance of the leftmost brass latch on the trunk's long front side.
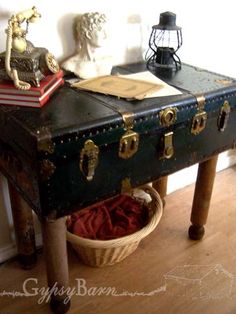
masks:
<svg viewBox="0 0 236 314"><path fill-rule="evenodd" d="M99 148L92 140L87 140L80 153L80 170L88 181L94 177L98 165Z"/></svg>

